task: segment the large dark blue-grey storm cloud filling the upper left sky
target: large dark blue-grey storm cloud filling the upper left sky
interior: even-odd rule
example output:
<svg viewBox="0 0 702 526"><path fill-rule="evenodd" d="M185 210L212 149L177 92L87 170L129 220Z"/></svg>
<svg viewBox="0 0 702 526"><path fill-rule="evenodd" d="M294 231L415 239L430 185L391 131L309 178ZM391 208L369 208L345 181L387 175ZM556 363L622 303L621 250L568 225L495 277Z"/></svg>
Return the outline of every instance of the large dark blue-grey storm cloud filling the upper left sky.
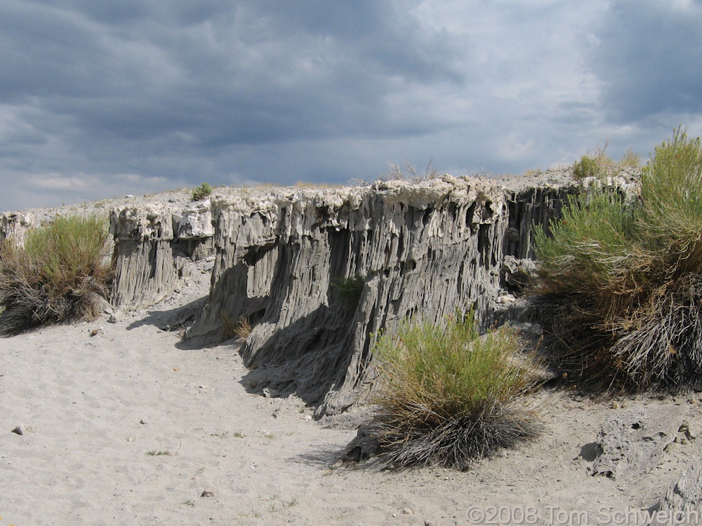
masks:
<svg viewBox="0 0 702 526"><path fill-rule="evenodd" d="M72 116L90 140L180 130L213 147L403 133L385 95L460 81L445 66L449 46L376 2L46 4L2 8L1 96Z"/></svg>

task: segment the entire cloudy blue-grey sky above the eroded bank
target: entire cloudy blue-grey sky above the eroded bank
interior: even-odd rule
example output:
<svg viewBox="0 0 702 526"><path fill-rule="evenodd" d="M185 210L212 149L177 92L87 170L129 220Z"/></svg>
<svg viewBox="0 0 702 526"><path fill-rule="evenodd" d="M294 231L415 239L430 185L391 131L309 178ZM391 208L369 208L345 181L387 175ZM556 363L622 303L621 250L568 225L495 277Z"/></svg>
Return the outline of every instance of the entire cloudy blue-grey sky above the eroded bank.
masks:
<svg viewBox="0 0 702 526"><path fill-rule="evenodd" d="M702 0L2 0L0 64L0 210L702 135Z"/></svg>

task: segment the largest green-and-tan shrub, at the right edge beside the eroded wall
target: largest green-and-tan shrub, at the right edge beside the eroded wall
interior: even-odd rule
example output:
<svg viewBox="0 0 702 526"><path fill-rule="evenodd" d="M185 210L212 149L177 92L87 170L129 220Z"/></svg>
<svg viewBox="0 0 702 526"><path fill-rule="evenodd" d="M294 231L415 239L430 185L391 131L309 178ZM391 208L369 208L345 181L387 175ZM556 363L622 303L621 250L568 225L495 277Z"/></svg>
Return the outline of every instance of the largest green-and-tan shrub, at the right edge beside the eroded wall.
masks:
<svg viewBox="0 0 702 526"><path fill-rule="evenodd" d="M640 198L573 201L536 236L544 321L564 373L595 389L702 387L702 147L680 128Z"/></svg>

